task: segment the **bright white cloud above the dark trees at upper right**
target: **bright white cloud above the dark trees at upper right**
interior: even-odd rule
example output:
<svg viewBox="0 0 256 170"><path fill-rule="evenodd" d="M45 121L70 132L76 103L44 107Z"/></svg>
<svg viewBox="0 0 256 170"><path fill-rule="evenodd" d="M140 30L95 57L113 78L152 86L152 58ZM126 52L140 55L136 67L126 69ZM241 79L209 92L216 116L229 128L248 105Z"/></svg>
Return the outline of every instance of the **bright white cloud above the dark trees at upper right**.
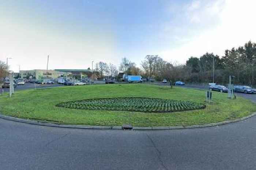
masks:
<svg viewBox="0 0 256 170"><path fill-rule="evenodd" d="M187 27L187 32L190 32L186 37L188 41L175 48L162 50L161 56L166 60L175 58L180 63L185 63L190 56L200 57L206 52L223 56L225 49L237 48L249 40L255 42L256 22L254 22L253 12L255 6L254 0L217 0L211 4L202 5L200 7L202 10L188 10L187 14L190 14L187 15L189 16L188 22L194 16L200 16L201 22L182 25L182 27ZM211 18L215 20L207 20ZM191 28L197 29L191 31ZM178 37L184 39L181 33L175 36L176 39L179 39Z"/></svg>

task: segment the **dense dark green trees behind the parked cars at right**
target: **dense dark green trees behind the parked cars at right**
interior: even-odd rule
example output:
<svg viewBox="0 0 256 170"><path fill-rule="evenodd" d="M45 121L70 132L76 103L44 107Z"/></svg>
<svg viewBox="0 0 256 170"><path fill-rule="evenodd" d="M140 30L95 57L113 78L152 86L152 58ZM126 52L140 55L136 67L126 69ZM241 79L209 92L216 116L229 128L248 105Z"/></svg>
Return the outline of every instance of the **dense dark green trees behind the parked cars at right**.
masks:
<svg viewBox="0 0 256 170"><path fill-rule="evenodd" d="M188 71L188 82L212 82L213 78L218 84L226 84L229 75L234 84L255 85L256 43L249 41L244 46L226 49L222 57L213 53L203 56L190 57L184 69ZM214 70L213 70L214 68Z"/></svg>

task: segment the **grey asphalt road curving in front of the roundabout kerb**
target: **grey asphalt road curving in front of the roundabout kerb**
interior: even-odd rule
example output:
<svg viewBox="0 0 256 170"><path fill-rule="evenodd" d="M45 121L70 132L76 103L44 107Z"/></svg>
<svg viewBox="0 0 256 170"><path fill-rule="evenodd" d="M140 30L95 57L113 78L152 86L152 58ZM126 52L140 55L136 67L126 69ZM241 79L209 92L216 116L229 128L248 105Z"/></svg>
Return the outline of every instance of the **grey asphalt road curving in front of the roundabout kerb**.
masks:
<svg viewBox="0 0 256 170"><path fill-rule="evenodd" d="M256 101L256 95L246 96ZM255 122L252 117L201 129L121 131L0 119L0 170L255 170Z"/></svg>

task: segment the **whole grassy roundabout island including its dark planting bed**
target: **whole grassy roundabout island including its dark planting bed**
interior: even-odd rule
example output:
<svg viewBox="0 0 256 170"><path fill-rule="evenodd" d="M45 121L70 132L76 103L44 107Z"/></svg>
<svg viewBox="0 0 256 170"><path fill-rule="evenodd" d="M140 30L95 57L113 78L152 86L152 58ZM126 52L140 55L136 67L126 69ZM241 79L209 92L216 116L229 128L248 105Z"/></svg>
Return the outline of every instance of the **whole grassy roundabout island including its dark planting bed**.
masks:
<svg viewBox="0 0 256 170"><path fill-rule="evenodd" d="M242 97L146 84L108 84L16 91L0 97L5 116L63 125L193 126L237 120L256 112Z"/></svg>

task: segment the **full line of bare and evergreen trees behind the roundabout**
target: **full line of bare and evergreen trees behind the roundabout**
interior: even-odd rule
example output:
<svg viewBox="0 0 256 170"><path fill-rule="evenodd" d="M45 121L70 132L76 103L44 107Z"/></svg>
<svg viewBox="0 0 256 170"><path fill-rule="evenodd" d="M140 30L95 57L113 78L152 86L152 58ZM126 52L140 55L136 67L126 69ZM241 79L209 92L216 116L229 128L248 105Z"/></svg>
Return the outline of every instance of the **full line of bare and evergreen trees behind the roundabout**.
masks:
<svg viewBox="0 0 256 170"><path fill-rule="evenodd" d="M124 57L120 66L100 61L95 64L100 78L117 76L118 72L128 75L141 75L161 81L181 80L184 82L227 84L229 75L234 76L234 84L256 84L256 43L251 41L238 48L226 49L222 57L205 53L200 57L191 56L185 64L171 63L158 55L147 55L140 67ZM0 80L6 75L7 66L0 61Z"/></svg>

